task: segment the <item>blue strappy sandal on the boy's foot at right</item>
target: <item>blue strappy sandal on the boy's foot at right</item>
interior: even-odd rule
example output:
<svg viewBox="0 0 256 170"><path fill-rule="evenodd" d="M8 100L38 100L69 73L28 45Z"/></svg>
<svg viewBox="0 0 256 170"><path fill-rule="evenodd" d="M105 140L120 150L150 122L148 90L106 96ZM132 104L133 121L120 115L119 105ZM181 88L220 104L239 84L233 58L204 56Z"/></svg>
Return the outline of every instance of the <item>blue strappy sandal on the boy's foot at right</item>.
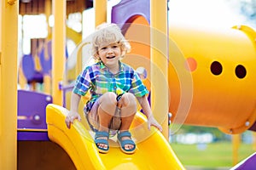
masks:
<svg viewBox="0 0 256 170"><path fill-rule="evenodd" d="M129 137L130 139L124 139L122 140L123 137ZM133 154L136 150L136 144L134 141L131 139L131 133L129 131L125 131L122 133L118 133L118 141L120 144L120 149L125 153L125 154ZM126 150L125 149L125 144L132 144L134 147L131 150Z"/></svg>

